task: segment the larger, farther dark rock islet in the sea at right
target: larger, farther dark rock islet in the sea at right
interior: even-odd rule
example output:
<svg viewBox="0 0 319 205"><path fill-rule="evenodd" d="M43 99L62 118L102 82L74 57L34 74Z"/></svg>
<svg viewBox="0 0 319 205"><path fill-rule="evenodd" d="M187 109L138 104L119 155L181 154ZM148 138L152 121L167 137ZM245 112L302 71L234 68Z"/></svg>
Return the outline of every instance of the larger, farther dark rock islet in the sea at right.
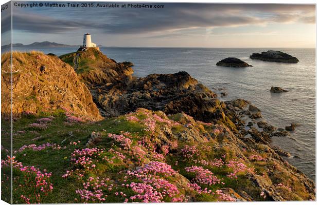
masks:
<svg viewBox="0 0 319 205"><path fill-rule="evenodd" d="M278 63L298 63L298 59L287 53L281 51L264 51L261 53L253 53L250 56L251 59L263 60L263 61L272 61Z"/></svg>

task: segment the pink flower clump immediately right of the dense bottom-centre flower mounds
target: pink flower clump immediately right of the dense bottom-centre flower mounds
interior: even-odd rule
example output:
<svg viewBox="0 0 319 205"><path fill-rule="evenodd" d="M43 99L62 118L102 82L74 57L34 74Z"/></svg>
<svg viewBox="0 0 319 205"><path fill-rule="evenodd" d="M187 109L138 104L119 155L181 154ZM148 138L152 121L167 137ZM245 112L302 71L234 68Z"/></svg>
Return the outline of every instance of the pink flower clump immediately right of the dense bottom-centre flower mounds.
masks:
<svg viewBox="0 0 319 205"><path fill-rule="evenodd" d="M221 183L221 180L217 178L212 172L203 167L191 166L185 167L186 172L194 172L196 177L194 180L203 185L215 185L217 183ZM223 182L222 182L223 183Z"/></svg>

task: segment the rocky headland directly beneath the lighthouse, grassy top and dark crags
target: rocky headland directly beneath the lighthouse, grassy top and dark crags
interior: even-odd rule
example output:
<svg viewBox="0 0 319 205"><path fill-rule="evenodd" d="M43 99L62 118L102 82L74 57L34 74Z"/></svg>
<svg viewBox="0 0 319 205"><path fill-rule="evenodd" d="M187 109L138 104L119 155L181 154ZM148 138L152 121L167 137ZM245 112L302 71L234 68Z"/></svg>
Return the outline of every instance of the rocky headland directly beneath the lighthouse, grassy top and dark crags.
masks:
<svg viewBox="0 0 319 205"><path fill-rule="evenodd" d="M231 123L223 114L217 95L186 72L132 77L128 63L116 63L96 49L60 58L70 65L75 65L75 59L80 62L76 71L105 117L146 108L166 114L185 112L202 121Z"/></svg>

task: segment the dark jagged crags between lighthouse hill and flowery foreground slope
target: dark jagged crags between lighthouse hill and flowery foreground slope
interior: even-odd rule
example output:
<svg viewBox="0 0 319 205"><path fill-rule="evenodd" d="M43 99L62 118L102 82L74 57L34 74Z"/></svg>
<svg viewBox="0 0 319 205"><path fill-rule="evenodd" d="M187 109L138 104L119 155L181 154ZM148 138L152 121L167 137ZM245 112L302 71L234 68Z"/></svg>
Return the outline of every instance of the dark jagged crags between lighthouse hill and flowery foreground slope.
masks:
<svg viewBox="0 0 319 205"><path fill-rule="evenodd" d="M127 87L105 85L91 91L107 117L146 108L166 114L185 112L202 121L228 121L217 95L186 72L151 74Z"/></svg>

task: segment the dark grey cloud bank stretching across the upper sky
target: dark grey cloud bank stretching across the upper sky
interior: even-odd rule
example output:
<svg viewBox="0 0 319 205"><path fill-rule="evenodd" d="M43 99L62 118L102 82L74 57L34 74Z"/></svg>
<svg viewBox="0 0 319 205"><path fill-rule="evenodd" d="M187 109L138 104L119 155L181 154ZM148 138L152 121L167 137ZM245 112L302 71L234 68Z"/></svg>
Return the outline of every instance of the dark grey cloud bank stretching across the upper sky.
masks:
<svg viewBox="0 0 319 205"><path fill-rule="evenodd" d="M315 5L156 4L164 5L165 8L107 10L67 8L59 12L54 9L33 11L29 9L28 13L20 9L21 12L14 12L13 29L34 33L95 29L109 34L141 34L189 28L315 23Z"/></svg>

